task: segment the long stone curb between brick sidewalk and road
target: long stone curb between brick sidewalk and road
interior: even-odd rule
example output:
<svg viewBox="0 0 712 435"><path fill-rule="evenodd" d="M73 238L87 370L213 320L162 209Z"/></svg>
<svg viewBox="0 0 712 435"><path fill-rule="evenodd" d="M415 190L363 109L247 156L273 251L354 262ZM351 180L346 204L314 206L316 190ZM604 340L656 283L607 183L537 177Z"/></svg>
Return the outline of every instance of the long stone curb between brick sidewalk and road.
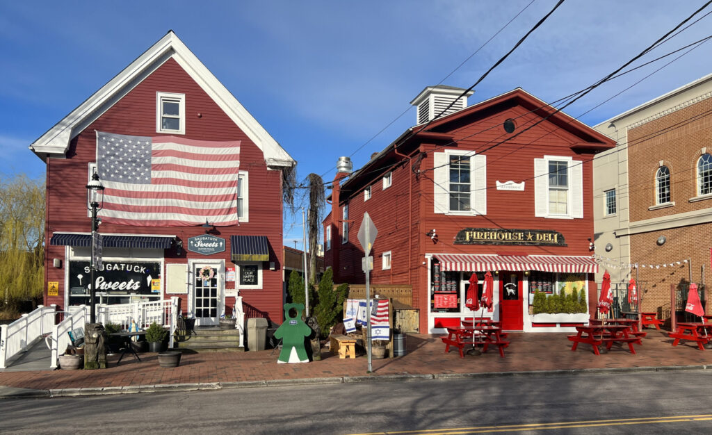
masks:
<svg viewBox="0 0 712 435"><path fill-rule="evenodd" d="M415 380L449 380L449 379L484 379L491 377L514 376L557 376L561 374L607 374L607 373L634 373L634 372L672 372L678 370L711 370L712 365L683 365L661 367L621 367L600 369L570 369L570 370L544 370L530 372L484 372L484 373L440 373L440 374L384 374L382 376L345 376L345 377L315 377L299 379L271 379L261 381L242 382L209 382L193 384L157 384L157 385L131 385L127 387L85 387L64 389L23 389L13 387L0 387L0 399L19 399L30 397L78 397L100 396L112 394L137 394L160 393L175 391L203 391L217 389L241 389L255 387L290 387L305 384L361 384L368 382L409 382ZM6 391L3 391L6 389Z"/></svg>

